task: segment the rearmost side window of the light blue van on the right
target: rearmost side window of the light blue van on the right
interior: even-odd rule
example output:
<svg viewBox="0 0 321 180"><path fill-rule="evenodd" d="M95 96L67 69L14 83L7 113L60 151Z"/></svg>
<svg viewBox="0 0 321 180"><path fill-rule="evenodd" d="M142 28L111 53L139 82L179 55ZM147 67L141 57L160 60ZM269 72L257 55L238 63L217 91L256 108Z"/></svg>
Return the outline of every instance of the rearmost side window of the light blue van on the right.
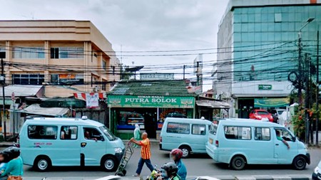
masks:
<svg viewBox="0 0 321 180"><path fill-rule="evenodd" d="M226 139L243 139L243 140L251 139L250 127L225 126L224 132L225 132Z"/></svg>

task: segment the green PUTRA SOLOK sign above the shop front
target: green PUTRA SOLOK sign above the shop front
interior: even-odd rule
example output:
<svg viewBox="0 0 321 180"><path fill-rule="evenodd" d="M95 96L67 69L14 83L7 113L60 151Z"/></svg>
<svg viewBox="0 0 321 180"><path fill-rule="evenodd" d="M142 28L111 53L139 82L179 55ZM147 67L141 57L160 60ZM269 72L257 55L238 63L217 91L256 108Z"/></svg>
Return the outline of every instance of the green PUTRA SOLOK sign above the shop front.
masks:
<svg viewBox="0 0 321 180"><path fill-rule="evenodd" d="M195 97L108 95L108 107L193 108Z"/></svg>

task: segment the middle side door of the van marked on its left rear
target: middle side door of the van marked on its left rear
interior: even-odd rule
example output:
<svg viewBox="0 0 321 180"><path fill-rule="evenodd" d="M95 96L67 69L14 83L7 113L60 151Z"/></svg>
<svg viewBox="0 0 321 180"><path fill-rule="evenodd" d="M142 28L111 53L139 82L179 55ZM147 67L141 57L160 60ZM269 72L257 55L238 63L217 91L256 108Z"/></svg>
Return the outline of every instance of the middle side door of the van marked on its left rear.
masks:
<svg viewBox="0 0 321 180"><path fill-rule="evenodd" d="M78 126L61 126L56 141L56 163L60 166L79 166L79 147L81 137L78 137Z"/></svg>

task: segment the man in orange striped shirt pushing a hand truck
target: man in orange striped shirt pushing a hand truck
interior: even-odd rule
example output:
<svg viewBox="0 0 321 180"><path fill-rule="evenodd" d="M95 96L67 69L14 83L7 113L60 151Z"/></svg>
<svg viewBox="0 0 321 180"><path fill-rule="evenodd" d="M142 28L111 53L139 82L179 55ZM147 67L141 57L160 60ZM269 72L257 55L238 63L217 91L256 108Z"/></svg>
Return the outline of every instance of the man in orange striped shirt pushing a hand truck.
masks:
<svg viewBox="0 0 321 180"><path fill-rule="evenodd" d="M146 163L146 166L151 170L151 172L154 170L154 167L151 164L151 142L149 142L146 132L141 134L141 139L143 140L138 142L134 138L131 138L131 142L141 146L141 159L139 159L138 162L136 176L141 176L141 170L143 169L144 163Z"/></svg>

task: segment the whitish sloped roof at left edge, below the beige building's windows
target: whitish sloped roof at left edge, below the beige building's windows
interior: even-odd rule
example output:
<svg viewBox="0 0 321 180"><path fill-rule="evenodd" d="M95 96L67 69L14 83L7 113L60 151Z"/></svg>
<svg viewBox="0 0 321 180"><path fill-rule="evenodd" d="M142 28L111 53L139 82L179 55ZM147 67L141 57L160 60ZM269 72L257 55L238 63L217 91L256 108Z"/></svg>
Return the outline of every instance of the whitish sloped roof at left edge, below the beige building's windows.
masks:
<svg viewBox="0 0 321 180"><path fill-rule="evenodd" d="M36 96L43 88L42 85L8 85L4 87L4 95L11 97L12 92L16 97ZM2 91L0 91L2 97Z"/></svg>

